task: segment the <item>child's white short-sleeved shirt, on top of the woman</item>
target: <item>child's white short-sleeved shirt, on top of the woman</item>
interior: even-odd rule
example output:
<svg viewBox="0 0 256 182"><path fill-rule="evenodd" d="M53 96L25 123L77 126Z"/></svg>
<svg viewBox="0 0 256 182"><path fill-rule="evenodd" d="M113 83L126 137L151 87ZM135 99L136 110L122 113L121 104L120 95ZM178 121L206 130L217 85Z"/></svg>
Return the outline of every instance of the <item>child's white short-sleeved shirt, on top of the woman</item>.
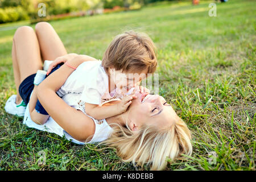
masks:
<svg viewBox="0 0 256 182"><path fill-rule="evenodd" d="M85 61L67 78L64 85L56 92L60 97L66 94L81 94L80 100L88 104L101 105L121 94L109 94L109 78L101 65L101 60Z"/></svg>

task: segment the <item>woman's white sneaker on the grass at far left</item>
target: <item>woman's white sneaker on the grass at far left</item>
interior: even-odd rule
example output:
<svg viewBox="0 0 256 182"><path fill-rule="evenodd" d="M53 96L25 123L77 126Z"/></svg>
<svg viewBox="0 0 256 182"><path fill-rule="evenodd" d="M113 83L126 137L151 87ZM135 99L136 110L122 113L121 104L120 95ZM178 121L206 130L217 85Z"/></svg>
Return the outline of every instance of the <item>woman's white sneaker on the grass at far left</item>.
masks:
<svg viewBox="0 0 256 182"><path fill-rule="evenodd" d="M20 102L20 104L16 104L16 95L11 96L5 104L5 111L6 113L17 115L18 117L23 117L25 110L26 110L26 105L24 101Z"/></svg>

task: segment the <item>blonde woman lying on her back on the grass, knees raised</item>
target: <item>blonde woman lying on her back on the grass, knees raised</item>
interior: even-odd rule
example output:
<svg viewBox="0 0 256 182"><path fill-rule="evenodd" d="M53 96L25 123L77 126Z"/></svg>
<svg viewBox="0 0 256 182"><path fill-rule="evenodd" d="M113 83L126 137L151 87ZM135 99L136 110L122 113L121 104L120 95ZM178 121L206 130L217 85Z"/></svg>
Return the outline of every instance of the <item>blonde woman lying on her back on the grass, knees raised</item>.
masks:
<svg viewBox="0 0 256 182"><path fill-rule="evenodd" d="M141 93L136 86L135 96L125 112L100 120L85 113L85 103L79 100L79 93L59 97L56 92L76 72L73 68L79 69L79 65L89 65L96 59L86 55L67 55L49 23L38 23L35 29L36 32L31 27L23 26L15 32L12 56L17 95L6 102L7 113L22 115L23 112L23 123L28 127L64 135L75 143L101 142L115 147L123 161L140 166L148 163L153 170L166 168L167 157L174 160L181 158L181 154L191 155L188 127L161 96ZM136 36L131 37L138 40ZM64 57L62 61L68 64L56 69L33 91L35 73L42 69L40 55L43 60ZM35 123L30 117L37 98L50 115L43 125ZM110 101L102 107L121 101ZM23 102L27 105L25 111L22 111L22 107L25 109Z"/></svg>

